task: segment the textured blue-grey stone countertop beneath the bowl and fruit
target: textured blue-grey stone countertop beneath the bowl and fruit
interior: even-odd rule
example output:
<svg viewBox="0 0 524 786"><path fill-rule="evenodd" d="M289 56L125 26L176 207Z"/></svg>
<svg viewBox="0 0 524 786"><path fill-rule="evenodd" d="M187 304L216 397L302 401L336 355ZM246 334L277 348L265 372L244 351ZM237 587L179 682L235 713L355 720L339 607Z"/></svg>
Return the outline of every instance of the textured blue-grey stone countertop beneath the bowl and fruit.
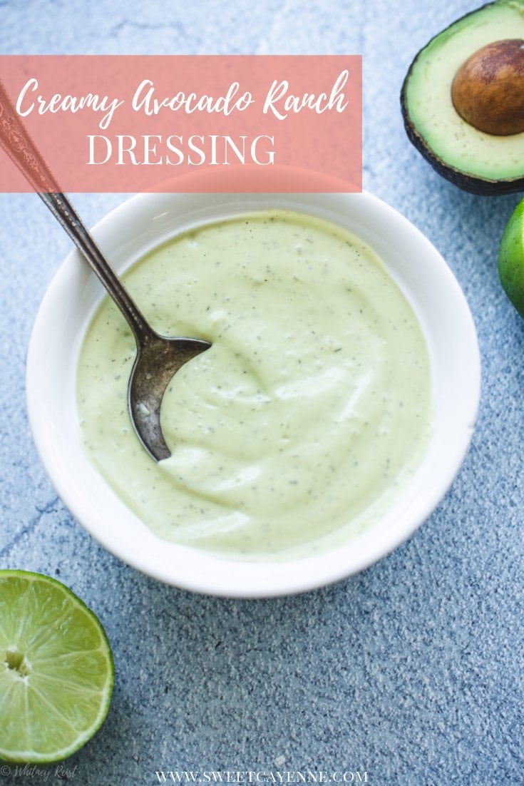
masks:
<svg viewBox="0 0 524 786"><path fill-rule="evenodd" d="M497 277L500 235L519 195L473 196L439 178L409 144L399 108L412 57L473 7L0 2L4 54L362 54L365 189L442 253L482 353L480 413L464 465L438 509L390 556L334 586L273 600L164 586L94 542L35 453L27 343L71 244L35 195L0 195L0 565L60 578L99 615L115 656L108 719L67 762L75 784L205 782L203 773L233 771L269 773L277 783L316 771L372 786L524 784L524 320ZM93 225L124 198L74 201ZM0 769L0 780L59 783L65 774L13 766Z"/></svg>

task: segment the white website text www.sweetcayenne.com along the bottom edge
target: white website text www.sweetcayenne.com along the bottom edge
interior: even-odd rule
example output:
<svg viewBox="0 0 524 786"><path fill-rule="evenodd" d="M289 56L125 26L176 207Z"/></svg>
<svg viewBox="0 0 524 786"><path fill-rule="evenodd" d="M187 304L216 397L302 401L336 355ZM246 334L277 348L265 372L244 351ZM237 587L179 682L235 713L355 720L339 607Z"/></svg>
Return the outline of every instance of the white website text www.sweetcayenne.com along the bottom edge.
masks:
<svg viewBox="0 0 524 786"><path fill-rule="evenodd" d="M367 771L361 770L156 770L160 784L368 784Z"/></svg>

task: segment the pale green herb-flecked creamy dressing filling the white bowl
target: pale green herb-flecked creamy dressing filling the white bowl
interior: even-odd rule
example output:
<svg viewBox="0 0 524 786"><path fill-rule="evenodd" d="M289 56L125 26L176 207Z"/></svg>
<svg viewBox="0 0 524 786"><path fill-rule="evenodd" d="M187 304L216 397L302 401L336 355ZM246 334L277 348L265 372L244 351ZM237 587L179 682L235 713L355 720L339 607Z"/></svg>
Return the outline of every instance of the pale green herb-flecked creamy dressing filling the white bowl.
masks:
<svg viewBox="0 0 524 786"><path fill-rule="evenodd" d="M202 226L126 274L152 325L212 347L174 376L158 464L126 409L134 338L104 299L82 347L90 460L161 538L236 558L295 557L376 521L431 432L427 347L383 263L291 211Z"/></svg>

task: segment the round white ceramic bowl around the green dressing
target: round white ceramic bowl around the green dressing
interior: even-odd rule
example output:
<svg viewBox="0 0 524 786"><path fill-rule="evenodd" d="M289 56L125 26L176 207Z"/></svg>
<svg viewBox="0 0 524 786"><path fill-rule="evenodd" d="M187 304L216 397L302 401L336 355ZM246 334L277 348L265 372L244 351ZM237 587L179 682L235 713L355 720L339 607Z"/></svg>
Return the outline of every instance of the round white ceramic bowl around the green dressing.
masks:
<svg viewBox="0 0 524 786"><path fill-rule="evenodd" d="M90 464L80 442L77 358L104 291L76 251L46 292L27 356L27 406L35 444L75 519L106 549L145 574L226 597L302 592L355 574L389 553L427 519L448 490L478 413L478 342L464 295L419 230L368 193L141 194L102 219L93 236L122 271L197 222L270 207L311 212L367 241L405 292L426 336L435 402L427 454L383 520L357 539L302 560L232 561L162 540L126 508Z"/></svg>

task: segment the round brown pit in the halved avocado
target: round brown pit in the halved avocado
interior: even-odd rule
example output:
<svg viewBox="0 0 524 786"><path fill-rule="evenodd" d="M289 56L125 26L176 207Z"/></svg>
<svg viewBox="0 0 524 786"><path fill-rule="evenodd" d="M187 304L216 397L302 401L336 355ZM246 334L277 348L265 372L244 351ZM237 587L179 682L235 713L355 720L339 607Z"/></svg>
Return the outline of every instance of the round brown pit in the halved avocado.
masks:
<svg viewBox="0 0 524 786"><path fill-rule="evenodd" d="M485 134L524 131L524 39L489 43L468 57L451 95L460 117Z"/></svg>

